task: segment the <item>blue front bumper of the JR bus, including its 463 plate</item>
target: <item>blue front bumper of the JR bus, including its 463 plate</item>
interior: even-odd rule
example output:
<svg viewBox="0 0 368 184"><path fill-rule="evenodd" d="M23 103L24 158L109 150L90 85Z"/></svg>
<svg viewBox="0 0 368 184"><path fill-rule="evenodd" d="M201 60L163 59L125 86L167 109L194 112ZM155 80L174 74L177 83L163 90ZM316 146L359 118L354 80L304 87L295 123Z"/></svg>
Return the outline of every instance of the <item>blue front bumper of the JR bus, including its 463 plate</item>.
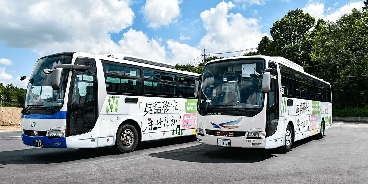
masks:
<svg viewBox="0 0 368 184"><path fill-rule="evenodd" d="M66 138L49 139L47 136L33 137L22 134L22 141L25 145L43 148L66 148Z"/></svg>

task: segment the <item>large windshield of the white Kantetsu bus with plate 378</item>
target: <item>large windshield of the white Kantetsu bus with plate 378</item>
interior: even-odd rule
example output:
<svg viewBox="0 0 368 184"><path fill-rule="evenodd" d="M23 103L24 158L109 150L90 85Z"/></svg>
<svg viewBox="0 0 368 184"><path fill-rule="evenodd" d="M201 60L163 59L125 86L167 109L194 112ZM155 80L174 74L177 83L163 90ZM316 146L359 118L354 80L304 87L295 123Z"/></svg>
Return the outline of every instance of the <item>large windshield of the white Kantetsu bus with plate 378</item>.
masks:
<svg viewBox="0 0 368 184"><path fill-rule="evenodd" d="M259 59L215 61L206 65L199 90L198 112L202 116L211 114L210 110L243 116L261 112L264 101L261 78L254 72L262 74L264 70L265 61Z"/></svg>

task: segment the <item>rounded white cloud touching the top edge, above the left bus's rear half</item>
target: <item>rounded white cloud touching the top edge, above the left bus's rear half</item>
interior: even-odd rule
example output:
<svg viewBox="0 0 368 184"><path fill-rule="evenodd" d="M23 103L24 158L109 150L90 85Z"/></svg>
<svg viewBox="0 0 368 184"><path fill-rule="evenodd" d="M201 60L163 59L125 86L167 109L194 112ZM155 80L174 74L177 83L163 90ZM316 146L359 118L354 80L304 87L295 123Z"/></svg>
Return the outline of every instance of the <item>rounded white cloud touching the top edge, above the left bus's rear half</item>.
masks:
<svg viewBox="0 0 368 184"><path fill-rule="evenodd" d="M142 7L144 19L151 28L169 25L180 14L178 0L147 0Z"/></svg>

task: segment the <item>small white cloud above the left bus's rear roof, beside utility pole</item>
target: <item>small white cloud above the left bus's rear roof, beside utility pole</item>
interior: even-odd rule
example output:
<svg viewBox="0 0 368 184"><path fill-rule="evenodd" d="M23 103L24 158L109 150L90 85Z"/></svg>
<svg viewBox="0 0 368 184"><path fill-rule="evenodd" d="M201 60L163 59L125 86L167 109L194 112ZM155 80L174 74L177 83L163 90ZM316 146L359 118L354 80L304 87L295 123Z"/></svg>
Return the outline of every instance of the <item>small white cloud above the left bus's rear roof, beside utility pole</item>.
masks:
<svg viewBox="0 0 368 184"><path fill-rule="evenodd" d="M201 53L201 50L197 47L192 47L183 43L175 42L173 39L167 40L167 49L171 49L172 58L170 59L170 63L172 64L180 64L183 61L191 58L192 56ZM187 63L189 63L188 61ZM187 64L183 63L183 64ZM191 63L193 64L193 63Z"/></svg>

